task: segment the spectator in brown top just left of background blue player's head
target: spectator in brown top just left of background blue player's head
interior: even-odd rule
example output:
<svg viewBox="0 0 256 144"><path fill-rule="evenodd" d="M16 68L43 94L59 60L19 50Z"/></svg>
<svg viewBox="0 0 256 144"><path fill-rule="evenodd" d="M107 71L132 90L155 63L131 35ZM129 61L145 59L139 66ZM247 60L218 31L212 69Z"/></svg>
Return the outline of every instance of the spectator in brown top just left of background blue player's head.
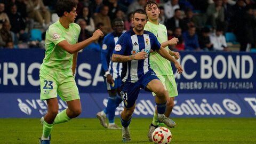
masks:
<svg viewBox="0 0 256 144"><path fill-rule="evenodd" d="M99 22L104 23L104 26L102 28L102 32L104 34L108 34L112 31L111 20L108 16L108 10L108 6L104 5L102 6L100 13L97 14L97 17L94 17L95 25L98 25Z"/></svg>

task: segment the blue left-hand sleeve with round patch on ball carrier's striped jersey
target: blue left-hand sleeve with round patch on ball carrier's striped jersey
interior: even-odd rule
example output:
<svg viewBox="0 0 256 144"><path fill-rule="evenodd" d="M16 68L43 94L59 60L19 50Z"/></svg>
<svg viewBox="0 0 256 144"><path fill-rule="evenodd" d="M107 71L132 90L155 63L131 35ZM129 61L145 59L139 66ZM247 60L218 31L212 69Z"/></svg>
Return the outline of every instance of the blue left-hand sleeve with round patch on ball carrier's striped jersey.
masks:
<svg viewBox="0 0 256 144"><path fill-rule="evenodd" d="M126 38L126 33L125 33L125 34L121 35L121 37L119 37L113 53L124 55L126 47L127 47L127 38Z"/></svg>

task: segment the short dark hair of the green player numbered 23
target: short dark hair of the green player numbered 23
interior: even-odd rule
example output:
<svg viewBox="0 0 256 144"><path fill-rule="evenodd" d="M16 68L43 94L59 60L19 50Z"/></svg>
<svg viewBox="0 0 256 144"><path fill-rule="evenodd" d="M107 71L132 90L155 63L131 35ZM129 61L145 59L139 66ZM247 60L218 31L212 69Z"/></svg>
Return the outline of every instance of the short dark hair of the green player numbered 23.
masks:
<svg viewBox="0 0 256 144"><path fill-rule="evenodd" d="M76 7L74 0L58 0L56 3L56 13L59 17L64 15L64 12L71 12Z"/></svg>

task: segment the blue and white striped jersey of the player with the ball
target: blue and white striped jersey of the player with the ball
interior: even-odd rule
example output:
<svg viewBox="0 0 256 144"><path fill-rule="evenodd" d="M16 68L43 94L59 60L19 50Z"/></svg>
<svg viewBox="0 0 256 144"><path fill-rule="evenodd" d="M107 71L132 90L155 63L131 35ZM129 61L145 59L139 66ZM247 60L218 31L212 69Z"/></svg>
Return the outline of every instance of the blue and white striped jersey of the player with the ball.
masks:
<svg viewBox="0 0 256 144"><path fill-rule="evenodd" d="M131 29L126 31L117 41L114 54L132 55L140 51L146 51L148 58L143 60L132 60L123 62L122 81L131 83L137 82L150 69L149 53L150 49L158 50L161 44L157 41L156 36L144 30L143 35L136 35Z"/></svg>

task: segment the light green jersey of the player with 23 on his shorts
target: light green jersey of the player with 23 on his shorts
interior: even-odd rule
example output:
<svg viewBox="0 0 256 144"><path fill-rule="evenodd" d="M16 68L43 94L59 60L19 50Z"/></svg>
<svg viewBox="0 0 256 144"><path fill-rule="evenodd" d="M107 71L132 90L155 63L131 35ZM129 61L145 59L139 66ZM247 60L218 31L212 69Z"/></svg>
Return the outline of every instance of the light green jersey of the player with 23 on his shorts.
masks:
<svg viewBox="0 0 256 144"><path fill-rule="evenodd" d="M45 57L42 65L55 70L71 69L73 54L68 53L57 44L67 40L69 44L77 43L81 28L76 23L70 23L64 28L59 21L53 23L45 35Z"/></svg>

